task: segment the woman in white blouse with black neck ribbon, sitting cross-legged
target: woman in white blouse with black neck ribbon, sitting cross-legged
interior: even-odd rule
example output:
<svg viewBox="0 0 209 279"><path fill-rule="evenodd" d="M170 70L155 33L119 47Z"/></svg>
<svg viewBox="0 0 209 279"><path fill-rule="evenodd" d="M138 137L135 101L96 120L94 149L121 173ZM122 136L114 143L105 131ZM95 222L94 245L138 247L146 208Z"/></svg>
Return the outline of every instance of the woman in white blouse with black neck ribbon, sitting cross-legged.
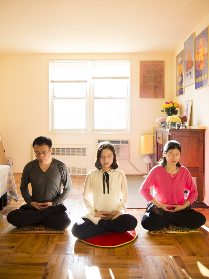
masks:
<svg viewBox="0 0 209 279"><path fill-rule="evenodd" d="M110 142L101 142L96 151L96 170L85 179L83 202L86 215L72 227L72 234L80 239L104 234L106 231L134 230L137 219L125 214L127 208L127 179L117 170L115 149Z"/></svg>

